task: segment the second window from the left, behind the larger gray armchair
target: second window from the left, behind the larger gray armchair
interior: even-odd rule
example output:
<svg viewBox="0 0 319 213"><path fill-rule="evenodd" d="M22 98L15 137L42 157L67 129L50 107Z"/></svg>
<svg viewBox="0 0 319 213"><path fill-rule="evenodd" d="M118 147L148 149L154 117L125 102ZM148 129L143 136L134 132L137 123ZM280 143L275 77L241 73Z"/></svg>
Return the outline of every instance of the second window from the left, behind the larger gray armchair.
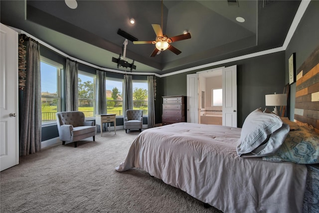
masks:
<svg viewBox="0 0 319 213"><path fill-rule="evenodd" d="M95 117L95 82L96 76L79 70L79 111L86 118Z"/></svg>

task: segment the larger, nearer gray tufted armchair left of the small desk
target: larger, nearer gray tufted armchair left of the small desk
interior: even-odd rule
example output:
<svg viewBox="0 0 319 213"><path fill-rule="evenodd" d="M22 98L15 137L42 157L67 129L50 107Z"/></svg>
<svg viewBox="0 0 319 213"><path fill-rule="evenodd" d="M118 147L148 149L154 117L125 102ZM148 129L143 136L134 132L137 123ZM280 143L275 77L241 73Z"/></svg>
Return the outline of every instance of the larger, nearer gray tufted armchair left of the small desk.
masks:
<svg viewBox="0 0 319 213"><path fill-rule="evenodd" d="M62 145L69 141L74 142L74 147L77 147L77 141L91 136L95 141L96 126L94 126L94 121L85 121L83 112L57 112L56 121Z"/></svg>

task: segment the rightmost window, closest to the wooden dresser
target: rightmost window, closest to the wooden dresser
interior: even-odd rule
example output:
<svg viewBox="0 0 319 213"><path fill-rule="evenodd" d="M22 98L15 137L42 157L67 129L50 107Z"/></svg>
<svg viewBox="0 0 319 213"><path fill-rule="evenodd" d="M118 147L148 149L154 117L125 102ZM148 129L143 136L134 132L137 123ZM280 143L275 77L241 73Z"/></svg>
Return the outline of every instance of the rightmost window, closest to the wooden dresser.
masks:
<svg viewBox="0 0 319 213"><path fill-rule="evenodd" d="M148 115L148 81L133 80L133 109L142 109Z"/></svg>

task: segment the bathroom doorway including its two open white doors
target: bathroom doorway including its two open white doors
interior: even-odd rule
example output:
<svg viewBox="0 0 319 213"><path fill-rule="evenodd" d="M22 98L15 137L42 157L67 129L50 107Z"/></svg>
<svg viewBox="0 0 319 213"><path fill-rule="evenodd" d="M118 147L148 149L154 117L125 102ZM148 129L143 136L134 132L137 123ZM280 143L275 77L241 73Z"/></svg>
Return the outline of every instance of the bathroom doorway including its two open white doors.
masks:
<svg viewBox="0 0 319 213"><path fill-rule="evenodd" d="M187 122L237 127L236 68L233 65L187 75Z"/></svg>

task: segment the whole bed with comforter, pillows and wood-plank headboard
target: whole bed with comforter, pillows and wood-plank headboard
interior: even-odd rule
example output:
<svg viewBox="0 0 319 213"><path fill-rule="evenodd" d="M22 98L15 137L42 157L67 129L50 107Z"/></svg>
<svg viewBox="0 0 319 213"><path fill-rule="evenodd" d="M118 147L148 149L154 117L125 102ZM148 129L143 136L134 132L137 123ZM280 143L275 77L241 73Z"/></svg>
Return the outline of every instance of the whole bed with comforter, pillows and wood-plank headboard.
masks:
<svg viewBox="0 0 319 213"><path fill-rule="evenodd" d="M116 170L140 168L225 213L318 213L318 56L297 72L295 122L256 109L242 128L147 129Z"/></svg>

